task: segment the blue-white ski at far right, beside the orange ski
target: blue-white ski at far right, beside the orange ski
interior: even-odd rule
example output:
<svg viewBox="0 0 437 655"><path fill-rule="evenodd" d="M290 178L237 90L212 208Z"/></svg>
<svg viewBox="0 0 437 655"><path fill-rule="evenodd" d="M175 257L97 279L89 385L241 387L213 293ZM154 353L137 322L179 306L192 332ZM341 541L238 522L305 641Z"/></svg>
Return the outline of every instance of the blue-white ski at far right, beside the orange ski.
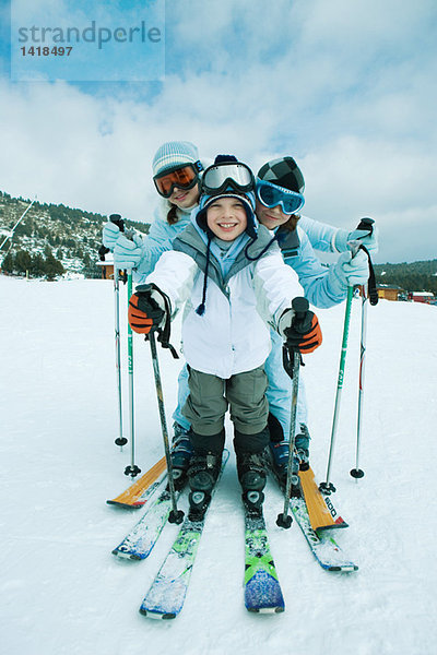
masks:
<svg viewBox="0 0 437 655"><path fill-rule="evenodd" d="M304 533L308 546L312 550L314 556L322 569L326 571L343 572L358 570L358 567L347 559L343 550L332 537L331 531L322 531L320 534L317 534L316 531L312 529L307 505L303 498L291 498L290 508L302 532Z"/></svg>

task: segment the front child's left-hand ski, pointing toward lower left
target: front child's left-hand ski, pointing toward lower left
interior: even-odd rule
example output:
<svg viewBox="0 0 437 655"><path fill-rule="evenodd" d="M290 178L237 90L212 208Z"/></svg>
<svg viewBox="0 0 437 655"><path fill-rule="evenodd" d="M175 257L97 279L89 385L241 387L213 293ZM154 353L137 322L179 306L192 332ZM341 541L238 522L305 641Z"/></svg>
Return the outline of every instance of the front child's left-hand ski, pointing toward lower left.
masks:
<svg viewBox="0 0 437 655"><path fill-rule="evenodd" d="M225 450L221 473L212 493L218 485L228 456L229 453ZM140 612L145 617L174 619L182 609L210 504L211 499L200 520L190 519L190 514L184 520L175 543L141 604Z"/></svg>

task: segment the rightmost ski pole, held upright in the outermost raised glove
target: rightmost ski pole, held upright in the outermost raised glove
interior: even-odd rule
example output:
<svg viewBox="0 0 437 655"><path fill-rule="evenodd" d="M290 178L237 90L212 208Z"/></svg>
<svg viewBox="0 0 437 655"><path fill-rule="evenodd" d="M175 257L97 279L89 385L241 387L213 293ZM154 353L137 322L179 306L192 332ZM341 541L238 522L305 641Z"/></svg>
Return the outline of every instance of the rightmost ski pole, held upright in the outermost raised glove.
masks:
<svg viewBox="0 0 437 655"><path fill-rule="evenodd" d="M373 224L375 222L371 218L362 218L357 229L366 229L367 231L373 230ZM375 273L371 265L369 252L363 246L361 247L368 257L369 260L369 281L367 285L363 285L362 296L362 329L361 329L361 345L359 345L359 377L358 377L358 410L356 418L356 457L355 468L351 469L351 476L358 480L364 477L364 471L359 468L359 451L362 441L362 426L363 426L363 407L364 407L364 379L365 379L365 364L366 364L366 349L367 349L367 299L370 299L370 305L377 305L378 293L376 290ZM367 288L366 288L367 287Z"/></svg>

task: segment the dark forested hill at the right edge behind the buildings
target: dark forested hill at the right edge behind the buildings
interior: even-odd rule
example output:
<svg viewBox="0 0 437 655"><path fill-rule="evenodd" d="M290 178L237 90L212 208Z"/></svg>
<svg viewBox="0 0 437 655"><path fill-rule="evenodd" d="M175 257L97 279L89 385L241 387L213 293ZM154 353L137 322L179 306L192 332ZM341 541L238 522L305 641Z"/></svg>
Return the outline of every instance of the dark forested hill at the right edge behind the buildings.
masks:
<svg viewBox="0 0 437 655"><path fill-rule="evenodd" d="M393 284L405 291L430 291L437 295L437 259L402 264L377 264L375 274L380 284Z"/></svg>

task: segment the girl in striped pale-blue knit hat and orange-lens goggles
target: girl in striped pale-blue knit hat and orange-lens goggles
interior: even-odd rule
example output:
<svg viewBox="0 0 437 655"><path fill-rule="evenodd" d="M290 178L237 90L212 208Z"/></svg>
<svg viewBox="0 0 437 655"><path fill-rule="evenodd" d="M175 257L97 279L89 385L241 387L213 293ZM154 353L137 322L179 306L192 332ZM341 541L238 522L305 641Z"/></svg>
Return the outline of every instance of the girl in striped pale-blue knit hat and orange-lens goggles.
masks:
<svg viewBox="0 0 437 655"><path fill-rule="evenodd" d="M154 270L162 253L173 248L173 240L190 224L191 211L199 203L200 178L205 165L200 160L194 144L187 141L172 141L164 143L156 151L152 168L153 180L161 195L161 203L155 210L149 236L133 234L133 240L129 240L113 223L107 223L104 226L103 241L106 247L114 250L115 264L118 269L132 269L138 281L144 279ZM263 222L261 216L260 221ZM343 251L351 238L347 230L312 221L306 216L300 217L299 225L307 234L309 242L320 250ZM267 225L267 227L272 229L270 225ZM316 258L312 258L312 264L315 261ZM311 276L311 262L309 260L307 260L305 269L308 273L307 284L319 286L320 271L318 270L316 275L314 270ZM328 273L328 271L324 273ZM304 284L304 286L307 285ZM306 293L308 293L307 288ZM341 298L339 297L335 301L341 301ZM174 413L174 449L176 448L176 452L174 452L173 458L175 468L178 465L181 468L188 466L190 457L190 425L181 413L188 393L187 380L187 368L184 367L179 376L179 403ZM281 389L283 388L282 382L281 380ZM286 397L290 394L286 390L283 390L282 395L284 396L282 404L285 407L287 405ZM308 431L306 428L305 396L300 393L297 414L297 425L303 426Z"/></svg>

